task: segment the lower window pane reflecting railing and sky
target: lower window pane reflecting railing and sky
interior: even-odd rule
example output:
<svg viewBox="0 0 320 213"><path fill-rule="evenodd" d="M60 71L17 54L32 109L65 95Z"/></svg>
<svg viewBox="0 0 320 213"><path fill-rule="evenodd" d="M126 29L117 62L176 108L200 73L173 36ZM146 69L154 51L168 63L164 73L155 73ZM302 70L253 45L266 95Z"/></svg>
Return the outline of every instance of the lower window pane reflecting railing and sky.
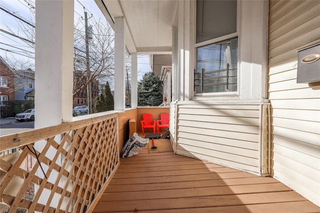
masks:
<svg viewBox="0 0 320 213"><path fill-rule="evenodd" d="M237 37L196 49L195 93L237 90Z"/></svg>

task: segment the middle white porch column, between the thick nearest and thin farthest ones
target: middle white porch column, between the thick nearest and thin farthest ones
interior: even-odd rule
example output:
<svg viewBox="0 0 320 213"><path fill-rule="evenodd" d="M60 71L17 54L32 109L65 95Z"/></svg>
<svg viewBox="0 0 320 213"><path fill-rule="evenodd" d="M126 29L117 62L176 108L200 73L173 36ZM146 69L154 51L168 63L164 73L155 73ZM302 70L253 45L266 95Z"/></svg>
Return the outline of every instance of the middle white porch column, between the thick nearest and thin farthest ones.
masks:
<svg viewBox="0 0 320 213"><path fill-rule="evenodd" d="M124 17L114 18L114 110L124 110L125 105L125 42Z"/></svg>

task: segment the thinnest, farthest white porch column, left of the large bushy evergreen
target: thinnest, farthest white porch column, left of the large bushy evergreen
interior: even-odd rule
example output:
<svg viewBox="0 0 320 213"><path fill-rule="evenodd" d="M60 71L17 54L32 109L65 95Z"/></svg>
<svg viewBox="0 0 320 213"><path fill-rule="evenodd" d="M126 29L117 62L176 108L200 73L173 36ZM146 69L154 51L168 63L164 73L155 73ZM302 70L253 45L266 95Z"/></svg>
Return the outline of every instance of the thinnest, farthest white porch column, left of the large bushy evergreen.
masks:
<svg viewBox="0 0 320 213"><path fill-rule="evenodd" d="M131 54L131 107L136 108L138 105L138 75L137 75L137 54Z"/></svg>

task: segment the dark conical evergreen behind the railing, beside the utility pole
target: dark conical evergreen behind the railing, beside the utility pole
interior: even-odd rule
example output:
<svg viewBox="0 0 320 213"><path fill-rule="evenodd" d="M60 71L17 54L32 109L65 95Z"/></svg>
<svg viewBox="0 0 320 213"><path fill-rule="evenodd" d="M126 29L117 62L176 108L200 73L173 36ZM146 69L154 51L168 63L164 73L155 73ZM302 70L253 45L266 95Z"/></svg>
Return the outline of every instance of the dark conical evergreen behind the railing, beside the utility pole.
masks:
<svg viewBox="0 0 320 213"><path fill-rule="evenodd" d="M106 82L104 86L104 91L101 93L95 101L94 113L105 112L114 109L113 96L111 94L109 82Z"/></svg>

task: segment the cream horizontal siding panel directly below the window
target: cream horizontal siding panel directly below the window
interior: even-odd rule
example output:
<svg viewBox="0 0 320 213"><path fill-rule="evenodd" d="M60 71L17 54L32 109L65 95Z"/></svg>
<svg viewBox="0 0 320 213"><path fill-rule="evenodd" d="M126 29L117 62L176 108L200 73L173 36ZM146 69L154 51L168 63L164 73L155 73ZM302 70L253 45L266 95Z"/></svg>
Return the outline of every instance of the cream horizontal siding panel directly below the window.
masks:
<svg viewBox="0 0 320 213"><path fill-rule="evenodd" d="M177 154L267 173L267 104L179 105L176 122Z"/></svg>

